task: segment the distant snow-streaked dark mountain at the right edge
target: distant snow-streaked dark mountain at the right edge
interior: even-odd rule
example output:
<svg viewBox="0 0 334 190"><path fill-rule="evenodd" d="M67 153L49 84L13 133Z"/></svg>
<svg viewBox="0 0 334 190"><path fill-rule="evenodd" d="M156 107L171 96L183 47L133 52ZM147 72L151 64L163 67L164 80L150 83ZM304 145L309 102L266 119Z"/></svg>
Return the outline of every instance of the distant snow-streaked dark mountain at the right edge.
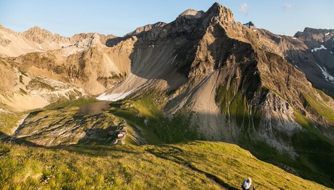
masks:
<svg viewBox="0 0 334 190"><path fill-rule="evenodd" d="M305 28L294 37L275 35L264 29L258 29L258 32L274 41L276 51L280 51L291 65L302 71L314 87L333 95L333 30Z"/></svg>

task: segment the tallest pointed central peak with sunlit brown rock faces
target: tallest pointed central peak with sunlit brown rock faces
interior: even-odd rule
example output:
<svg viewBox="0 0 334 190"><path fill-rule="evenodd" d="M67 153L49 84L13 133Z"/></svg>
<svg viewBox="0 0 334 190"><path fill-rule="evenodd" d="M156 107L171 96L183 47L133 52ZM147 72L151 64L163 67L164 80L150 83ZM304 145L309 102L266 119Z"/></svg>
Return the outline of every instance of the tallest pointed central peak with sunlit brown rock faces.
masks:
<svg viewBox="0 0 334 190"><path fill-rule="evenodd" d="M153 34L164 35L148 37ZM290 46L280 44L280 41L285 41L284 37L272 35L273 38L268 39L265 35L268 34L264 31L254 31L235 22L232 12L218 4L200 14L187 10L162 30L151 30L140 36L135 44L138 51L133 52L133 57L143 57L146 51L159 52L163 47L165 54L169 55L164 59L169 61L153 60L150 54L149 57L145 55L144 59L134 59L132 68L147 64L147 61L157 61L161 68L166 64L164 73L168 73L175 65L177 71L187 77L187 81L174 87L177 94L166 104L166 111L175 114L182 108L189 109L190 113L195 112L193 120L200 123L200 131L208 139L241 142L240 135L244 132L240 130L253 128L247 133L256 131L254 136L258 140L265 140L278 150L296 156L291 144L282 141L277 133L291 136L303 131L300 123L295 121L296 113L302 113L314 123L325 126L323 134L332 139L332 124L327 122L328 118L320 119L319 114L316 116L306 106L303 97L311 94L311 99L318 97L315 101L330 105L333 101L319 98L319 93L312 88L304 74L285 60L281 50ZM154 47L151 46L153 43ZM137 75L145 77L140 73ZM160 78L158 75L156 77ZM161 78L168 83L173 81L172 78ZM122 87L126 81L120 82L119 86ZM241 103L243 105L240 102L244 102ZM312 119L311 115L318 119ZM246 122L254 117L259 119L258 124ZM226 129L227 126L230 130ZM275 132L267 133L268 130ZM214 135L210 131L214 131Z"/></svg>

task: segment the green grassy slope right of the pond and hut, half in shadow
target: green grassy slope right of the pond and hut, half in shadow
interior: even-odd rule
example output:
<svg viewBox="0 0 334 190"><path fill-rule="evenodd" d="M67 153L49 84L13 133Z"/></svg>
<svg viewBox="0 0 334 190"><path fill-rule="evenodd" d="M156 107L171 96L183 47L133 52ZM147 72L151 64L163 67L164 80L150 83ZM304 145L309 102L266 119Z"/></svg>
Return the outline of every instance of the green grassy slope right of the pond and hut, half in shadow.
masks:
<svg viewBox="0 0 334 190"><path fill-rule="evenodd" d="M135 106L127 108L127 104ZM190 126L190 117L177 114L173 119L165 118L159 105L155 104L150 97L114 102L106 110L126 119L127 123L145 139L147 144L201 139L196 128Z"/></svg>

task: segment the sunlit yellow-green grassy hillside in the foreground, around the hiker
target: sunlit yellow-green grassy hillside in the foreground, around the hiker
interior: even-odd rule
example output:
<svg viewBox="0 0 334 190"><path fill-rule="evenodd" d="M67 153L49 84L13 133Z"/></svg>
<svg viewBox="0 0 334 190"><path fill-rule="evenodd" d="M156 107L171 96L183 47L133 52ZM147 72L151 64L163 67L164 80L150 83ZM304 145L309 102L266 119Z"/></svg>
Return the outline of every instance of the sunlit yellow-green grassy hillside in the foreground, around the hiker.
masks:
<svg viewBox="0 0 334 190"><path fill-rule="evenodd" d="M50 149L0 143L0 156L3 189L238 189L248 176L260 189L326 189L222 142Z"/></svg>

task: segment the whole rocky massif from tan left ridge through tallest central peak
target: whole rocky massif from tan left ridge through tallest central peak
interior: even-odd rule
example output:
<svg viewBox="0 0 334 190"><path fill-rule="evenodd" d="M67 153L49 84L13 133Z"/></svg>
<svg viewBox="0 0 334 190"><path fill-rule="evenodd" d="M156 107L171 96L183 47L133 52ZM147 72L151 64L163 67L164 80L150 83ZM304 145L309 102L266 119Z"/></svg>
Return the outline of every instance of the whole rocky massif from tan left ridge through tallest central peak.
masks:
<svg viewBox="0 0 334 190"><path fill-rule="evenodd" d="M95 34L62 50L20 56L13 64L73 83L90 94L109 89L103 97L140 89L173 91L165 112L175 114L182 105L196 113L193 121L200 123L207 139L237 143L245 133L240 131L244 126L253 129L251 133L259 140L294 155L281 136L259 131L274 128L285 133L290 126L292 131L301 129L294 120L301 113L334 139L331 116L310 103L322 102L332 110L333 101L314 90L304 74L285 60L283 48L290 46L280 43L284 40L275 41L282 37L269 34L236 22L229 9L214 4L207 12L184 11L174 22L114 47L102 46ZM254 112L258 126L250 122ZM217 133L212 135L212 131Z"/></svg>

